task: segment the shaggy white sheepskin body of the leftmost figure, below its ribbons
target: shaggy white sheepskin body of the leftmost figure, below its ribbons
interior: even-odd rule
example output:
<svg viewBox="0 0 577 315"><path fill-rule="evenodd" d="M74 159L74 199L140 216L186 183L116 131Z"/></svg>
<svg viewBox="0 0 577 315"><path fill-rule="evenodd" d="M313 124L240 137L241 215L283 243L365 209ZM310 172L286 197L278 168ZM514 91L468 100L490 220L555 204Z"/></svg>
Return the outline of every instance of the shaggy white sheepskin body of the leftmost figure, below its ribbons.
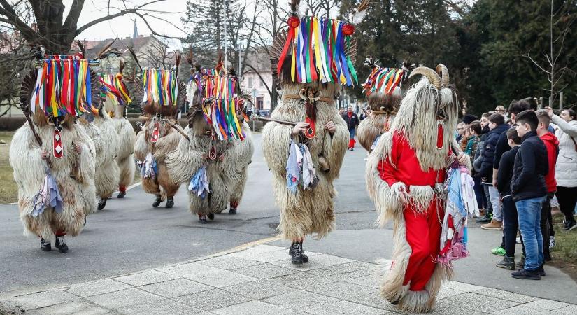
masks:
<svg viewBox="0 0 577 315"><path fill-rule="evenodd" d="M36 76L37 72L31 71L21 86L21 104L31 118L31 125L24 123L15 132L10 144L10 166L14 169L14 180L18 186L18 208L24 233L50 241L53 236L78 235L85 225L85 215L96 209L96 153L93 141L83 127L75 124L73 116L66 113L48 119L39 106L36 106L35 111L27 106L30 104ZM55 131L57 127L59 134ZM34 128L41 145L31 128ZM80 153L76 151L75 145L80 146ZM44 151L49 155L51 168L41 158ZM62 197L62 211L57 213L54 207L47 207L35 215L35 202L41 202L42 197L37 199L37 196L45 183L47 169Z"/></svg>

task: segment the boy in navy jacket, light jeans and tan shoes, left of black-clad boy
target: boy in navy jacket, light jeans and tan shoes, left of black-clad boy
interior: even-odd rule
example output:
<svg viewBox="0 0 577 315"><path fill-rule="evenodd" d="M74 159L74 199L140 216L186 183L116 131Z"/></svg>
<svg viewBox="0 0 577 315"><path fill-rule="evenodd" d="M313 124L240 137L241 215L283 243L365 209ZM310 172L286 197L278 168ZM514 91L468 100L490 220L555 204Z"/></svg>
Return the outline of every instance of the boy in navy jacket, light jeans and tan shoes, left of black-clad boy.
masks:
<svg viewBox="0 0 577 315"><path fill-rule="evenodd" d="M485 141L485 151L483 151L483 165L481 165L481 181L489 185L489 197L493 207L493 217L490 223L481 225L485 230L501 230L503 225L503 215L501 214L501 204L499 202L499 192L493 186L493 161L495 148L501 134L509 129L509 125L505 123L505 116L500 113L494 113L489 116L489 127L491 131ZM499 254L504 253L504 248L501 246L495 248Z"/></svg>

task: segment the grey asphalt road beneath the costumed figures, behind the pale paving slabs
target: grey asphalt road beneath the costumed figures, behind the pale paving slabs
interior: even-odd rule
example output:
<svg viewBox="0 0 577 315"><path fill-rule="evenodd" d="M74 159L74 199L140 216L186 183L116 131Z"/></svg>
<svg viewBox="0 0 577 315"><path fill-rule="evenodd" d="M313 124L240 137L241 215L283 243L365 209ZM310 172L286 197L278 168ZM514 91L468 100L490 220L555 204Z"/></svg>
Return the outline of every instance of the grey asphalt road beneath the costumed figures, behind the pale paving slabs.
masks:
<svg viewBox="0 0 577 315"><path fill-rule="evenodd" d="M337 183L339 228L371 228L373 206L364 191L364 156L348 152ZM198 258L249 241L276 235L278 209L271 173L255 134L255 155L249 169L243 202L236 216L222 214L208 225L197 222L187 207L185 187L176 207L153 208L154 197L140 186L124 200L112 199L106 209L88 217L78 237L68 238L69 253L43 253L39 241L22 236L17 206L0 206L0 292L31 290L100 279L159 265ZM357 213L357 211L364 211Z"/></svg>

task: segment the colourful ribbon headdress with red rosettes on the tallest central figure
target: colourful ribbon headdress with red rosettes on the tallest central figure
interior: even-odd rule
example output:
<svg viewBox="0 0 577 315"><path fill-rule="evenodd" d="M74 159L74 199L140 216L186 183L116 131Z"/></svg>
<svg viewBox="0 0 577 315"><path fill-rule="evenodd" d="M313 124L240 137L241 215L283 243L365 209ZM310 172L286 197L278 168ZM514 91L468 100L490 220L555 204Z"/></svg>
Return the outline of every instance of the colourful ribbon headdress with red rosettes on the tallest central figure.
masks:
<svg viewBox="0 0 577 315"><path fill-rule="evenodd" d="M279 80L281 73L294 83L358 83L355 71L357 42L352 39L355 27L335 19L302 17L297 15L299 0L291 3L292 15L288 30L279 31L271 51L271 67ZM357 8L353 20L360 22L366 13L368 0ZM283 65L290 64L283 68Z"/></svg>

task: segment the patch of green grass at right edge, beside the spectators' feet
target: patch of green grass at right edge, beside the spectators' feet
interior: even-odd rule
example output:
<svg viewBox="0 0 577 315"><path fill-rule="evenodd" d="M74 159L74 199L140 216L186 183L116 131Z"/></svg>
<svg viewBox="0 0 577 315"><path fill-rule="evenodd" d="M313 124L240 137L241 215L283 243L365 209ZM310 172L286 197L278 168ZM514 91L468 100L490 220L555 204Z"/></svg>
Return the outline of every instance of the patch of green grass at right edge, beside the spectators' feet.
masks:
<svg viewBox="0 0 577 315"><path fill-rule="evenodd" d="M555 229L555 248L551 250L553 261L549 265L559 267L577 281L577 230L563 230L563 214L553 215Z"/></svg>

